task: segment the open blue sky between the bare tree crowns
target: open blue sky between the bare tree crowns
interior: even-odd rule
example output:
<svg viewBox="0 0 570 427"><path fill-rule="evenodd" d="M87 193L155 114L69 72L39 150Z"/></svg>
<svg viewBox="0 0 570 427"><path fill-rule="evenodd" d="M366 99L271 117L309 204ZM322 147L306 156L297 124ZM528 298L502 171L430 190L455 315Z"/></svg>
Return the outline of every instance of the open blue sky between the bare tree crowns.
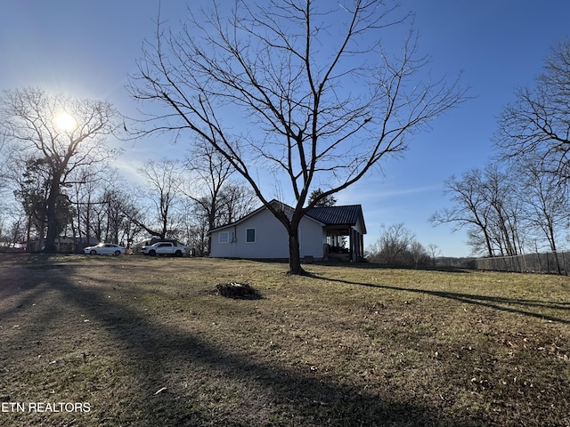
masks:
<svg viewBox="0 0 570 427"><path fill-rule="evenodd" d="M162 0L161 16L176 25L183 0ZM189 2L192 7L199 3ZM403 159L339 193L339 204L362 204L371 244L380 224L404 222L424 246L446 256L469 254L463 231L433 228L428 218L449 204L443 181L485 165L496 117L519 85L533 85L550 49L570 36L567 0L402 0L415 12L422 52L436 77L470 86L472 100L413 136ZM134 102L125 90L136 72L142 41L151 39L158 0L4 0L0 14L0 90L40 86L113 102L125 114ZM151 157L183 156L164 139L123 143L118 165L127 176Z"/></svg>

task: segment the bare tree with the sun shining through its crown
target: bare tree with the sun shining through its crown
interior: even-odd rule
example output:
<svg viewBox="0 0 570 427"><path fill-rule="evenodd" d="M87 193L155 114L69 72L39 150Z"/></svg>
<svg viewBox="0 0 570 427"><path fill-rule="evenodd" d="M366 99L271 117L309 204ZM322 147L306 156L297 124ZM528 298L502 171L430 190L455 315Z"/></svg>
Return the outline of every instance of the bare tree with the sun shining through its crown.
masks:
<svg viewBox="0 0 570 427"><path fill-rule="evenodd" d="M61 189L75 169L101 162L115 153L105 144L117 129L117 111L109 102L75 100L37 88L4 92L0 100L0 125L23 150L45 162L49 172L45 216L45 252L56 251L61 229L57 205Z"/></svg>

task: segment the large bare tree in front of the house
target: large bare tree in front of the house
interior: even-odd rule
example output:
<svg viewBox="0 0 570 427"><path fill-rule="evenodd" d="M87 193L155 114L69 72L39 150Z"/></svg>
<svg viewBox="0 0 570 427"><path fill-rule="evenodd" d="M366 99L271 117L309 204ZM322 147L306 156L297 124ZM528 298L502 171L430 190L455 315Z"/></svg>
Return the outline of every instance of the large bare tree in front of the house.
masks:
<svg viewBox="0 0 570 427"><path fill-rule="evenodd" d="M144 130L189 131L221 153L286 228L292 274L304 273L305 213L465 99L457 82L422 80L429 58L413 31L399 57L387 52L382 36L410 22L397 13L381 0L241 1L230 12L214 3L177 34L158 25L145 45L131 92L167 112ZM295 197L292 214L270 204L267 170ZM317 182L330 189L305 204Z"/></svg>

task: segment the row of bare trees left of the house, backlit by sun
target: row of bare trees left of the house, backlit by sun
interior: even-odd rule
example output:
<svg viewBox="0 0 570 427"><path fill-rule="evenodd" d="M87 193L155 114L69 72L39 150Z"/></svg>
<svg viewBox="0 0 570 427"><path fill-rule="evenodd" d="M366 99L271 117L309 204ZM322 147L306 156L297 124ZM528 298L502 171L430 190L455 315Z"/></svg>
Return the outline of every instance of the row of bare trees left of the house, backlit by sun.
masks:
<svg viewBox="0 0 570 427"><path fill-rule="evenodd" d="M4 92L0 115L4 245L55 252L61 236L74 238L76 250L156 237L206 254L208 230L256 205L223 158L200 143L183 159L146 161L141 184L126 181L112 166L119 151L106 139L121 128L109 103L27 88Z"/></svg>

